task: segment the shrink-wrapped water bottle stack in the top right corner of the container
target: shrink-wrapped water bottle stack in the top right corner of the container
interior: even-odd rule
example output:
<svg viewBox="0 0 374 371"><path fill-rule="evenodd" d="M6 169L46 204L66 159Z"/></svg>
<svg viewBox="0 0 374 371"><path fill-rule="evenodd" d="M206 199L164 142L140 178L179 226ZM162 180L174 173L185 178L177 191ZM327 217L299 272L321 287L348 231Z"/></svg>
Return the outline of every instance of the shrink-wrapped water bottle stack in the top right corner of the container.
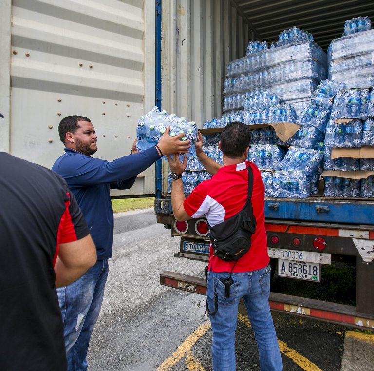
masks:
<svg viewBox="0 0 374 371"><path fill-rule="evenodd" d="M328 76L343 81L347 88L374 85L374 30L367 17L345 22L344 34L331 42L328 52Z"/></svg>

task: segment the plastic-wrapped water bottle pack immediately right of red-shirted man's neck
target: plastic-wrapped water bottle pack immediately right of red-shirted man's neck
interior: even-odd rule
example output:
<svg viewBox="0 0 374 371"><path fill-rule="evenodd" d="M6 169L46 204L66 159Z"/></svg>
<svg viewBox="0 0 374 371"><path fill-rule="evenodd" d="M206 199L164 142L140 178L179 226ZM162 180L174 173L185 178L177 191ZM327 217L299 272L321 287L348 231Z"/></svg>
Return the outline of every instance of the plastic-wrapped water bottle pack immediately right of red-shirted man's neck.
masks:
<svg viewBox="0 0 374 371"><path fill-rule="evenodd" d="M248 151L248 160L254 162L259 169L278 169L283 156L283 149L277 145L251 145Z"/></svg>

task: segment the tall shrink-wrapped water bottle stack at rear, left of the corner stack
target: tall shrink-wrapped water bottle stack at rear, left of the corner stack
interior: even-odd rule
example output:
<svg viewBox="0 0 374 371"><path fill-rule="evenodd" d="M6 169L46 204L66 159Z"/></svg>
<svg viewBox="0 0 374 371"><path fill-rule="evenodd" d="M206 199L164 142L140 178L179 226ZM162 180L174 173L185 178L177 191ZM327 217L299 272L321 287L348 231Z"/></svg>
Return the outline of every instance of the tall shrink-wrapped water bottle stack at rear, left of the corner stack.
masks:
<svg viewBox="0 0 374 371"><path fill-rule="evenodd" d="M264 42L251 41L247 56L227 64L225 97L236 100L236 108L243 106L238 95L256 88L268 88L281 101L310 98L319 81L326 78L327 56L309 35L294 27L283 31L282 41L270 49Z"/></svg>

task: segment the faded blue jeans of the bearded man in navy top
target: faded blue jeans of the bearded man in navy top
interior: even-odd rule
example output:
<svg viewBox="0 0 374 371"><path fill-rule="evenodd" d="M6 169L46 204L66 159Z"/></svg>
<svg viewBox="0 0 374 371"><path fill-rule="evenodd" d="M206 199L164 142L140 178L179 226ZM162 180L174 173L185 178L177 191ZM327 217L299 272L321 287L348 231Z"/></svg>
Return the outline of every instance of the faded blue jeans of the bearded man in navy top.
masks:
<svg viewBox="0 0 374 371"><path fill-rule="evenodd" d="M103 302L108 270L108 260L97 260L77 281L57 289L68 371L87 370L88 345Z"/></svg>

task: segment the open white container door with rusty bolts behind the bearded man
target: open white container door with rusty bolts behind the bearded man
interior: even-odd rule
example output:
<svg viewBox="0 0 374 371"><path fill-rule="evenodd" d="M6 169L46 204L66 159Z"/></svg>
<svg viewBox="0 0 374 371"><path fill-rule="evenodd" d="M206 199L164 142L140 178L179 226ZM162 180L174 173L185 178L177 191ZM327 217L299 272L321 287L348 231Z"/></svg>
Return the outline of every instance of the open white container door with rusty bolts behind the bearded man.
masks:
<svg viewBox="0 0 374 371"><path fill-rule="evenodd" d="M137 120L155 101L154 0L9 3L0 0L0 112L6 116L0 150L50 168L63 153L59 121L82 115L98 135L94 156L130 154ZM154 166L121 191L152 193Z"/></svg>

